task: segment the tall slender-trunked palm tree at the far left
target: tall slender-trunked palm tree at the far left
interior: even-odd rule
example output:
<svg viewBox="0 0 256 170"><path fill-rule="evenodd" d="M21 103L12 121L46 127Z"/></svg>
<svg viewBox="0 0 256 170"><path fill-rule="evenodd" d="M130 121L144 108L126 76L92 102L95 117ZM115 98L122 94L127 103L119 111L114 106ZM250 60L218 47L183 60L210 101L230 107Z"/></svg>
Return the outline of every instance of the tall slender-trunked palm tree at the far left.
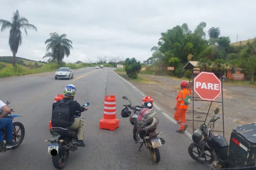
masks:
<svg viewBox="0 0 256 170"><path fill-rule="evenodd" d="M13 56L12 64L15 66L16 54L19 46L22 43L21 29L24 29L25 34L28 36L27 29L34 29L37 31L37 28L34 25L29 24L27 18L20 16L18 10L13 13L11 22L0 19L0 24L2 24L1 32L3 32L6 28L10 28L9 46Z"/></svg>

